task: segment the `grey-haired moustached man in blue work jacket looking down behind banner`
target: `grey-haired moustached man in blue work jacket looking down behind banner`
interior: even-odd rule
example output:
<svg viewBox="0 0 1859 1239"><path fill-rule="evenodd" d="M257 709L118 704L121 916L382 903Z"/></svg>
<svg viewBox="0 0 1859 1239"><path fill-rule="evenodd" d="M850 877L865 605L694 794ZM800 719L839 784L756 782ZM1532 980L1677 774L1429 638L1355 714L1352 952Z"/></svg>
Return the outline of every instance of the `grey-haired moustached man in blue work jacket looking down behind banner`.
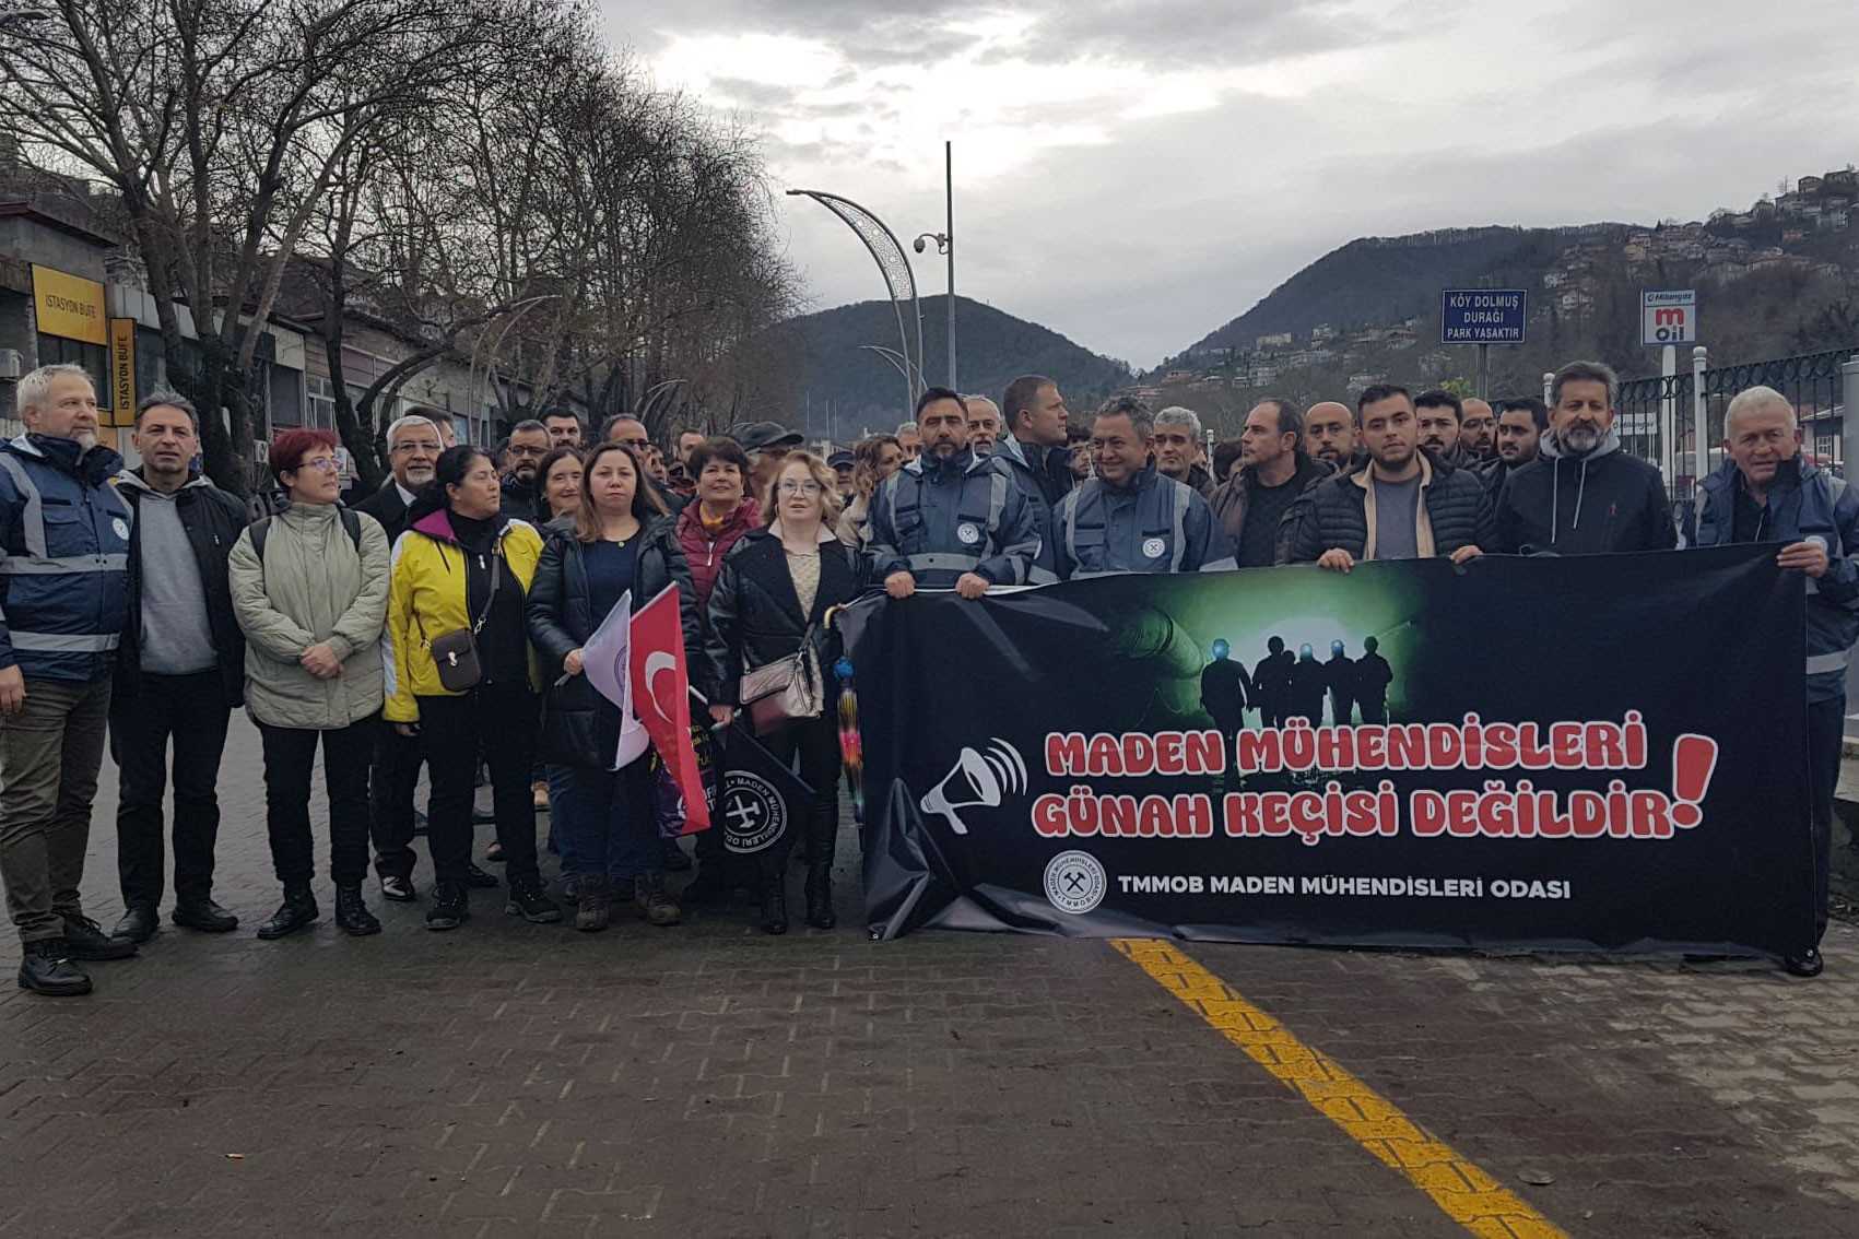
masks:
<svg viewBox="0 0 1859 1239"><path fill-rule="evenodd" d="M1216 552L1214 513L1201 494L1156 472L1149 405L1119 396L1091 424L1097 476L1052 516L1052 567L1065 580L1104 572L1231 568Z"/></svg>

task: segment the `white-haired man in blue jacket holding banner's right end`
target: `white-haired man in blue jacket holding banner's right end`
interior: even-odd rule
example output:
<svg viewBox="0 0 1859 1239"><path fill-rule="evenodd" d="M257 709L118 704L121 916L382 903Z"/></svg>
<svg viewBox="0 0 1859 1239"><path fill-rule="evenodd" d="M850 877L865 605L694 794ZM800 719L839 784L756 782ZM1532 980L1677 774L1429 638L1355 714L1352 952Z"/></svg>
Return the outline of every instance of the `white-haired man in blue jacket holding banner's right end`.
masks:
<svg viewBox="0 0 1859 1239"><path fill-rule="evenodd" d="M1699 546L1785 542L1775 561L1807 576L1807 795L1814 845L1814 942L1827 931L1833 789L1846 728L1846 663L1859 639L1859 494L1801 459L1794 405L1770 386L1723 411L1723 468L1707 477ZM1820 951L1783 960L1820 972Z"/></svg>

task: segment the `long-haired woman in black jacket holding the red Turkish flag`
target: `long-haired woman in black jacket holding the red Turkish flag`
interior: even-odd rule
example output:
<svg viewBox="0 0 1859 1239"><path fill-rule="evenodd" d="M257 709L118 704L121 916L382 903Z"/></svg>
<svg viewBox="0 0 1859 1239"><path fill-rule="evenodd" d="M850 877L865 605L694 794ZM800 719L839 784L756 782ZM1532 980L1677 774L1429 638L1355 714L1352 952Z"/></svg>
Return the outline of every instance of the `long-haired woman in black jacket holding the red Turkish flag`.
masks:
<svg viewBox="0 0 1859 1239"><path fill-rule="evenodd" d="M582 505L573 526L550 528L530 585L530 641L548 674L543 708L543 760L573 767L567 828L578 906L574 927L606 929L612 897L632 895L634 910L654 925L677 925L679 905L666 892L658 825L651 802L651 754L608 769L619 745L619 706L582 674L582 645L632 591L632 609L677 585L684 648L703 648L697 594L679 550L677 524L643 481L639 459L621 444L600 444L582 472Z"/></svg>

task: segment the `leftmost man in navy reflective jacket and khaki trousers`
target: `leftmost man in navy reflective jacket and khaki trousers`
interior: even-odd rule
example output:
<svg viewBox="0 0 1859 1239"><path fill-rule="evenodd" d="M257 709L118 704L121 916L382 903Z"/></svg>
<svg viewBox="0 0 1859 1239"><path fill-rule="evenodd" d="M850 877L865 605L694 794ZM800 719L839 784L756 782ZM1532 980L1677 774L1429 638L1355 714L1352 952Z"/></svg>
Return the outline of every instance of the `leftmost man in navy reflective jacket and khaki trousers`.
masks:
<svg viewBox="0 0 1859 1239"><path fill-rule="evenodd" d="M87 994L73 959L123 959L78 886L104 760L110 680L128 626L130 509L97 444L82 366L19 381L26 433L0 444L0 880L24 944L20 986Z"/></svg>

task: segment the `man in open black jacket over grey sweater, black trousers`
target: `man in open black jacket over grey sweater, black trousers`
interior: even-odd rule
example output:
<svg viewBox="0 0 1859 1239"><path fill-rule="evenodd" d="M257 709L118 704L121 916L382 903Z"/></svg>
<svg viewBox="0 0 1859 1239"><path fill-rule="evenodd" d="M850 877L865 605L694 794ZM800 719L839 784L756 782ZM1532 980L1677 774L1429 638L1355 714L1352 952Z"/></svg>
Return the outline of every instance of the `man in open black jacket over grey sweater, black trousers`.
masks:
<svg viewBox="0 0 1859 1239"><path fill-rule="evenodd" d="M125 908L113 936L149 942L162 923L162 799L171 745L175 923L204 933L238 927L238 918L214 903L214 843L219 758L245 689L245 639L227 583L227 555L245 528L245 505L193 472L199 416L182 396L145 398L136 407L134 437L143 464L117 479L136 520L130 622L110 700Z"/></svg>

